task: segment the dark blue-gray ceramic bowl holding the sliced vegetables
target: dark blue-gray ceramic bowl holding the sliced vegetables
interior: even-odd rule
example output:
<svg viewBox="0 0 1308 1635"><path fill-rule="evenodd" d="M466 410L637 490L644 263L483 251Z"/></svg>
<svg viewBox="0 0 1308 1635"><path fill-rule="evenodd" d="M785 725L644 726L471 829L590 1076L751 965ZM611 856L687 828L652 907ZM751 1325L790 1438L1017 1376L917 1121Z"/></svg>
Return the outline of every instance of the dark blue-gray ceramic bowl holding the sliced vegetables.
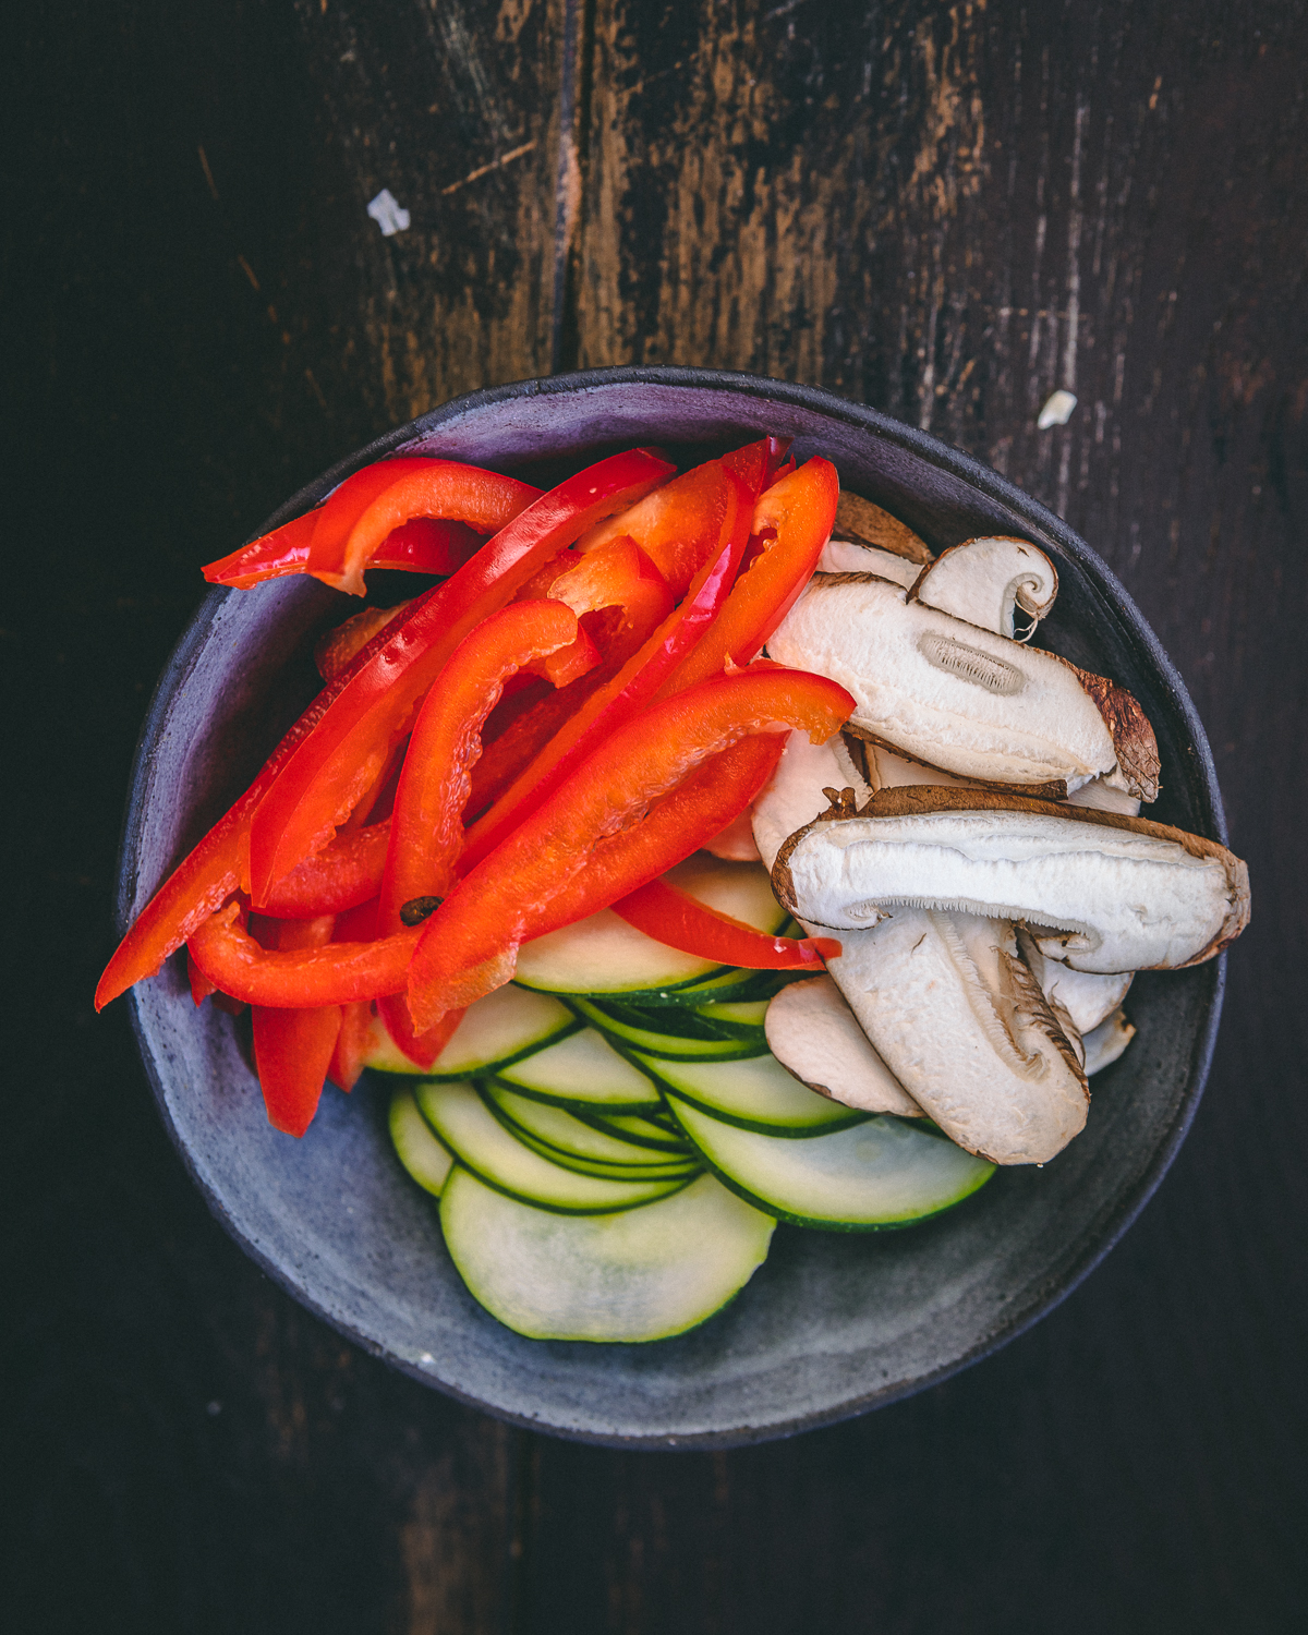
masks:
<svg viewBox="0 0 1308 1635"><path fill-rule="evenodd" d="M343 461L298 515L396 450L536 481L598 453L659 443L703 458L764 432L832 459L935 546L1017 533L1061 577L1045 641L1115 677L1158 731L1156 816L1225 839L1208 744L1180 677L1104 562L1069 528L943 443L822 391L698 370L607 370L476 392ZM312 580L216 590L150 706L132 777L124 924L240 791L314 692L314 636L342 615ZM520 1339L466 1293L435 1210L394 1161L383 1097L324 1094L302 1141L267 1123L229 1017L196 1010L180 958L136 991L141 1053L183 1161L227 1231L298 1300L414 1378L490 1413L615 1445L723 1447L829 1424L984 1357L1050 1311L1127 1230L1198 1102L1223 965L1144 974L1140 1037L1095 1079L1086 1133L1045 1169L1004 1171L961 1208L909 1231L777 1230L726 1311L652 1346Z"/></svg>

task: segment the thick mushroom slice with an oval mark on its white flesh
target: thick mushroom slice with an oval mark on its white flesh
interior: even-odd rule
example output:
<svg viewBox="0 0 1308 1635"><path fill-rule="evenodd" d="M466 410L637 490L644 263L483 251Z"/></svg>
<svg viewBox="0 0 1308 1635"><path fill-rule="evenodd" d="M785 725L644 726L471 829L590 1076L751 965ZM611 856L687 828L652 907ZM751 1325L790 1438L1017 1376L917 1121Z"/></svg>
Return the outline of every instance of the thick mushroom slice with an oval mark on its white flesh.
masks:
<svg viewBox="0 0 1308 1635"><path fill-rule="evenodd" d="M885 579L816 577L767 647L847 687L860 737L942 772L1051 800L1097 777L1158 795L1158 746L1130 693Z"/></svg>

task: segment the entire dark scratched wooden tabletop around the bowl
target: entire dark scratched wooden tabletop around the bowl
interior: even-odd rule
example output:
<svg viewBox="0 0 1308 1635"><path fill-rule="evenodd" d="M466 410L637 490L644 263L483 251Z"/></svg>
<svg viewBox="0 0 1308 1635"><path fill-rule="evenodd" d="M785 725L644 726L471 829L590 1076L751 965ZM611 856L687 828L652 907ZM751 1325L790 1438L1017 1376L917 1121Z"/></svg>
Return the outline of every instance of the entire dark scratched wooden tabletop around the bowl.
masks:
<svg viewBox="0 0 1308 1635"><path fill-rule="evenodd" d="M11 26L16 1627L1301 1627L1305 52L1287 0ZM1194 1131L1094 1277L930 1393L718 1455L508 1431L342 1342L208 1216L88 999L196 564L459 391L633 361L831 386L1063 512L1180 664L1256 896Z"/></svg>

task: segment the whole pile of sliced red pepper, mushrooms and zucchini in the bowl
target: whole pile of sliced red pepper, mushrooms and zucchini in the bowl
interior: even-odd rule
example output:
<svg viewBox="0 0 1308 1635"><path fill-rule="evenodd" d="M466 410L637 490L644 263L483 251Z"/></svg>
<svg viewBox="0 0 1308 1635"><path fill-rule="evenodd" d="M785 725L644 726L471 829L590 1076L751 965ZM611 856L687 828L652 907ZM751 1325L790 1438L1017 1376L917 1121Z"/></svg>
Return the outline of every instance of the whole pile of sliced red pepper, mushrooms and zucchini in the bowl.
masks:
<svg viewBox="0 0 1308 1635"><path fill-rule="evenodd" d="M319 643L96 1006L185 943L293 1136L397 1074L396 1154L520 1334L680 1334L778 1220L907 1226L1048 1162L1131 974L1248 921L1238 858L1138 816L1140 703L1030 644L1050 558L935 558L782 438L546 492L384 459L206 577L376 567L438 582Z"/></svg>

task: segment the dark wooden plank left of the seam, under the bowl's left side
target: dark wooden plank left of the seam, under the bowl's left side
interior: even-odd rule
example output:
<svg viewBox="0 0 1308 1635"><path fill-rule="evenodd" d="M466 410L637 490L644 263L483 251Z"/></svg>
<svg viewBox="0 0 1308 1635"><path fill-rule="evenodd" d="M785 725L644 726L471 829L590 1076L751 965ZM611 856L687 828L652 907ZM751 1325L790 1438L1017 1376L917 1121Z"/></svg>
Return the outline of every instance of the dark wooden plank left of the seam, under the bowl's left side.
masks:
<svg viewBox="0 0 1308 1635"><path fill-rule="evenodd" d="M512 1617L522 1439L258 1275L168 1149L126 1017L90 994L132 746L198 564L396 420L549 366L561 36L554 0L15 20L10 1627ZM410 213L391 239L366 214L383 185Z"/></svg>

